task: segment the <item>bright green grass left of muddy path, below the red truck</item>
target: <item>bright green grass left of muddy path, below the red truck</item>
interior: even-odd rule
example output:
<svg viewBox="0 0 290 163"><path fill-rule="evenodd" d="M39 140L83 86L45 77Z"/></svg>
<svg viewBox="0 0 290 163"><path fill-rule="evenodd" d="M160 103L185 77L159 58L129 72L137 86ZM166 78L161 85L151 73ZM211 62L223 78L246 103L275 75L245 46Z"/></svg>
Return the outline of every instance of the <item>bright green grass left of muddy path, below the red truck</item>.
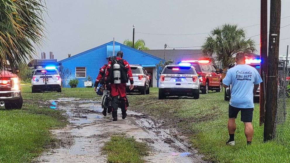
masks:
<svg viewBox="0 0 290 163"><path fill-rule="evenodd" d="M31 162L56 143L49 130L67 124L61 115L63 111L40 107L31 91L24 88L22 92L25 99L22 109L0 110L0 162ZM55 97L46 96L49 98Z"/></svg>

